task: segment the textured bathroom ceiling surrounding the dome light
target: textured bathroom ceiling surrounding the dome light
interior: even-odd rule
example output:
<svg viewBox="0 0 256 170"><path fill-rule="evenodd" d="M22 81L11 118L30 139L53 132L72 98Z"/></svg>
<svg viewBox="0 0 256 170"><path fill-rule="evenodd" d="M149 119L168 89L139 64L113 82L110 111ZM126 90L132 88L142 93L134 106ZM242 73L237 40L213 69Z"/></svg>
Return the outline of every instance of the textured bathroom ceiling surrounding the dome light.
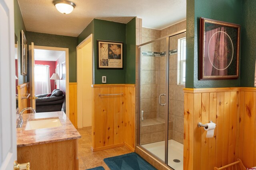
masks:
<svg viewBox="0 0 256 170"><path fill-rule="evenodd" d="M137 16L142 26L162 29L186 19L186 0L72 0L76 8L61 14L52 0L18 0L27 31L77 37L98 18L127 23Z"/></svg>

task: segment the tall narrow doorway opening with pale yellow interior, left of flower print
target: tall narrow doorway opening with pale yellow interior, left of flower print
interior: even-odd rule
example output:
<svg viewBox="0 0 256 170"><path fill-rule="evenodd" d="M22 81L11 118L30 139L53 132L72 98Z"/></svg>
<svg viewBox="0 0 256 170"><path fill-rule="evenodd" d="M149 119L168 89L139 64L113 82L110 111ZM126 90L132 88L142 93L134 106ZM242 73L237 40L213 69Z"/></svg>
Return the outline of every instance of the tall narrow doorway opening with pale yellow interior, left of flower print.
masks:
<svg viewBox="0 0 256 170"><path fill-rule="evenodd" d="M92 126L93 45L92 34L77 47L77 125Z"/></svg>

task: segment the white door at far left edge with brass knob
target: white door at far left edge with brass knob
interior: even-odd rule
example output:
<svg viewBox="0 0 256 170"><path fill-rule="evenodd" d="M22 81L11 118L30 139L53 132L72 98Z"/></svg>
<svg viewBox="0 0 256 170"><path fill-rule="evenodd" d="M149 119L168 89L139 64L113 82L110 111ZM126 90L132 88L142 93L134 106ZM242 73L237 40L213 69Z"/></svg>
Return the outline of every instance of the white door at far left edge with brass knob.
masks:
<svg viewBox="0 0 256 170"><path fill-rule="evenodd" d="M17 159L13 3L0 0L0 170Z"/></svg>

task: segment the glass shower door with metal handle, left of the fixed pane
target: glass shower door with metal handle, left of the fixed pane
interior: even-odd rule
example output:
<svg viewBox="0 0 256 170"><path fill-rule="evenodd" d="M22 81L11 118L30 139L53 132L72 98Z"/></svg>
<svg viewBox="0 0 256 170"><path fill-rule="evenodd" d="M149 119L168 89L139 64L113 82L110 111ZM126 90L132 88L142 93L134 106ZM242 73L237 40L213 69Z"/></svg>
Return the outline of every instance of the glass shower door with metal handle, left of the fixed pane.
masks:
<svg viewBox="0 0 256 170"><path fill-rule="evenodd" d="M140 145L165 162L167 39L140 47ZM167 114L166 114L167 113ZM167 118L168 119L168 118Z"/></svg>

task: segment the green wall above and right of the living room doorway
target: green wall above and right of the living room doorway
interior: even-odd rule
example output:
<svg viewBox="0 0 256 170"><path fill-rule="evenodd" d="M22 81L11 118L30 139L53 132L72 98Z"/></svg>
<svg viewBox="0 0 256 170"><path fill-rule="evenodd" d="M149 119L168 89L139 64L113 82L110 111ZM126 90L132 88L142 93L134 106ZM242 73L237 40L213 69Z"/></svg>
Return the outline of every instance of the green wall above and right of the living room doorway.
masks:
<svg viewBox="0 0 256 170"><path fill-rule="evenodd" d="M69 82L76 82L76 37L53 35L27 31L27 41L31 45L68 48Z"/></svg>

